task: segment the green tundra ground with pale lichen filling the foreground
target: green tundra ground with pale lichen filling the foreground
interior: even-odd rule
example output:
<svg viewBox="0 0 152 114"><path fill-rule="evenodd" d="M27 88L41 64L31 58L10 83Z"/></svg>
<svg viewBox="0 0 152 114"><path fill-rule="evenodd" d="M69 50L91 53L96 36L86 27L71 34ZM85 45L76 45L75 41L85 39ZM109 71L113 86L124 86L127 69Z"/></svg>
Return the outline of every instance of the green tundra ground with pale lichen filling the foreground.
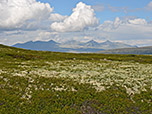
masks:
<svg viewBox="0 0 152 114"><path fill-rule="evenodd" d="M1 114L150 114L152 56L0 45Z"/></svg>

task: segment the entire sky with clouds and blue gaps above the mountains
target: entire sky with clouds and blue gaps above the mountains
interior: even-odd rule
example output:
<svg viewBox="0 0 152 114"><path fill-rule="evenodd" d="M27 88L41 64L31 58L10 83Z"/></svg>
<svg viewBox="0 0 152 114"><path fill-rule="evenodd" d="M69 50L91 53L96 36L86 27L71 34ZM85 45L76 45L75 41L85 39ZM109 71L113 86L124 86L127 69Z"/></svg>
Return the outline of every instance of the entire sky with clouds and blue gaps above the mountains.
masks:
<svg viewBox="0 0 152 114"><path fill-rule="evenodd" d="M0 0L0 44L106 40L152 45L152 0Z"/></svg>

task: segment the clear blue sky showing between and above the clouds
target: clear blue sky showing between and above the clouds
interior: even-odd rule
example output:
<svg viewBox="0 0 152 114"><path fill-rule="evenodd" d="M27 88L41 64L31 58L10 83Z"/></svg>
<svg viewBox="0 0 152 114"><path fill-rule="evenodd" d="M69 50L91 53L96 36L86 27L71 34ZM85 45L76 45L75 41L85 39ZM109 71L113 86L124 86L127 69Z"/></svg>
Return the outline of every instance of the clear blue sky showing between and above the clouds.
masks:
<svg viewBox="0 0 152 114"><path fill-rule="evenodd" d="M144 18L152 20L152 11L145 11L145 7L151 2L151 0L39 0L40 2L50 3L54 7L54 12L62 15L70 15L72 9L79 2L84 2L91 6L104 6L103 11L95 11L97 18L103 23L106 20L114 20L115 17L124 16L136 16L138 18ZM119 11L110 10L109 6ZM124 12L123 8L126 8L128 12Z"/></svg>

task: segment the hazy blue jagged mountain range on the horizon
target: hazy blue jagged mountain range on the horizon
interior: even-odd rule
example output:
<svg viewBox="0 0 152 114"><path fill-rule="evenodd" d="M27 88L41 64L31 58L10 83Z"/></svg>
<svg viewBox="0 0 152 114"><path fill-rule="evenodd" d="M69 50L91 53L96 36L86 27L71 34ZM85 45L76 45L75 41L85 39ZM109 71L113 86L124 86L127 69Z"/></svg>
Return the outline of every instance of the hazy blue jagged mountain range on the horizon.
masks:
<svg viewBox="0 0 152 114"><path fill-rule="evenodd" d="M58 43L53 40L50 41L29 41L26 43L17 43L13 47L30 49L30 50L42 50L42 51L55 51L55 52L74 52L74 53L94 53L107 49L118 48L132 48L132 46L119 42L111 42L109 40L99 43L94 40L88 42L79 42L76 40L70 40L64 43Z"/></svg>

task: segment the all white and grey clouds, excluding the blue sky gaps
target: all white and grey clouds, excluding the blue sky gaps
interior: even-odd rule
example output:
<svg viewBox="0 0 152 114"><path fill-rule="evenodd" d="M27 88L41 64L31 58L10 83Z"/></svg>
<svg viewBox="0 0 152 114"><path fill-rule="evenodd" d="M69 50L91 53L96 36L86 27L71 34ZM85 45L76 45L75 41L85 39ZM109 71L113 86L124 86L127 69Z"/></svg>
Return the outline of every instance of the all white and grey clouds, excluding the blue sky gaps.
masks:
<svg viewBox="0 0 152 114"><path fill-rule="evenodd" d="M119 7L114 9L125 10ZM143 9L151 11L152 2ZM108 39L133 45L152 44L152 22L126 16L99 24L94 11L103 10L106 10L103 5L91 7L80 2L70 16L63 16L53 12L48 3L36 0L0 0L0 43L11 45L29 40Z"/></svg>

